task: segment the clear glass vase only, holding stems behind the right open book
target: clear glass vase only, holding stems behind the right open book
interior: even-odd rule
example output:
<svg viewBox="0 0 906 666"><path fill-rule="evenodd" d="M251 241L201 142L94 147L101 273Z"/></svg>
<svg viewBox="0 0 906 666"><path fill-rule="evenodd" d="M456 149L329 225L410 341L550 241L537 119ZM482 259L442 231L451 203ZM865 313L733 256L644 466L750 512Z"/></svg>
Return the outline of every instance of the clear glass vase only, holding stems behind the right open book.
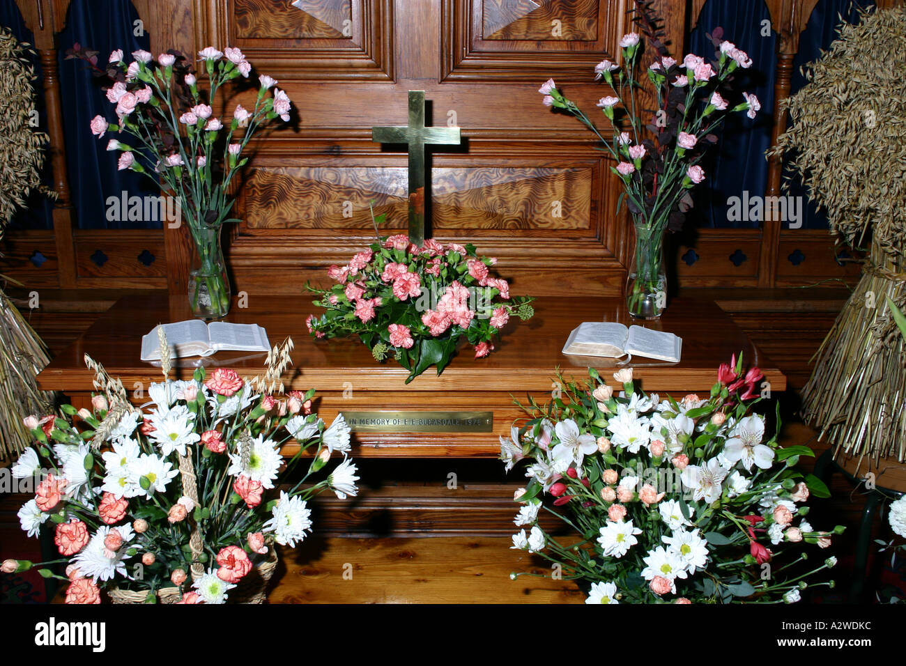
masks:
<svg viewBox="0 0 906 666"><path fill-rule="evenodd" d="M667 307L664 230L636 223L635 247L626 281L626 304L634 319L658 319Z"/></svg>

